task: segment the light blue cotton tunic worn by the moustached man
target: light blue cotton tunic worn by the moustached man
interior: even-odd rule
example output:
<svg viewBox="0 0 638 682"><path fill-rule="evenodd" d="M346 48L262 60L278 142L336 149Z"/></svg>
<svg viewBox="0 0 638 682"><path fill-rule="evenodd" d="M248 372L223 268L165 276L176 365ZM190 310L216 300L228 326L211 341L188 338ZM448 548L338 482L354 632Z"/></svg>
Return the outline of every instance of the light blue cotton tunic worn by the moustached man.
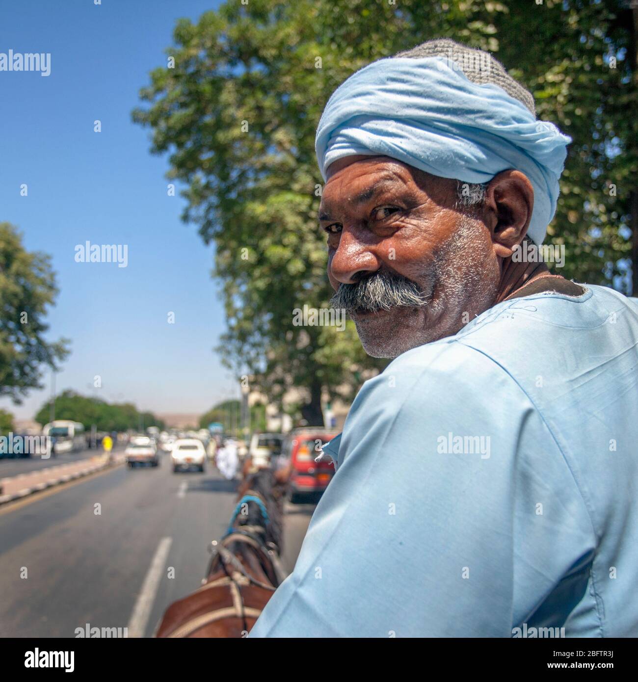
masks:
<svg viewBox="0 0 638 682"><path fill-rule="evenodd" d="M504 301L366 381L250 636L638 636L638 300Z"/></svg>

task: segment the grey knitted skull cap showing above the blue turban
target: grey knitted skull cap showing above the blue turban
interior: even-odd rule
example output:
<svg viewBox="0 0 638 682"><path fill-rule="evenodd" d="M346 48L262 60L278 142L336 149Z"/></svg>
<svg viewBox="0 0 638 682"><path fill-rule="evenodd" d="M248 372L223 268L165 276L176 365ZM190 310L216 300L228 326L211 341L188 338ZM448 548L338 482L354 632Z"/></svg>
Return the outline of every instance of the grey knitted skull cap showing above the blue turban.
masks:
<svg viewBox="0 0 638 682"><path fill-rule="evenodd" d="M510 97L519 100L530 110L536 118L536 106L532 93L527 91L520 83L506 72L502 63L492 57L489 52L467 47L450 38L437 38L428 40L411 50L399 52L394 57L448 57L452 59L460 71L467 76L472 83L493 83L504 89Z"/></svg>

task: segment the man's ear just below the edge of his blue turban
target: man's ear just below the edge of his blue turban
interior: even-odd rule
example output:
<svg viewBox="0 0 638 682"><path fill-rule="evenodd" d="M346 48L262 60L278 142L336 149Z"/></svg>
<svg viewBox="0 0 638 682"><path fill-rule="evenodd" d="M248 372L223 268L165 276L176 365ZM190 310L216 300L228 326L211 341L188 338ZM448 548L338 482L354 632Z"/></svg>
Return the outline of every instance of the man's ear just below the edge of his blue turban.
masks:
<svg viewBox="0 0 638 682"><path fill-rule="evenodd" d="M497 256L508 258L523 241L532 209L534 188L520 170L504 170L489 181L484 201L485 224Z"/></svg>

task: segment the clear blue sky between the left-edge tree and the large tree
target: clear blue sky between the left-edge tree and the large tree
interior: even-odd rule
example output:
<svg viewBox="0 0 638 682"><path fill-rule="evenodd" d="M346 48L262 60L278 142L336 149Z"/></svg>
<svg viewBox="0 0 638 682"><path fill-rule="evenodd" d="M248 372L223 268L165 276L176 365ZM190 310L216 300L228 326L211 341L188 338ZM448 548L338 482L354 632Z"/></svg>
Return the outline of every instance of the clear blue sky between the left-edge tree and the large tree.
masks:
<svg viewBox="0 0 638 682"><path fill-rule="evenodd" d="M60 293L49 336L72 341L59 390L160 413L203 412L238 394L212 350L224 331L214 252L179 220L184 203L179 188L167 196L166 156L149 153L150 131L130 117L149 71L166 64L175 20L218 4L0 4L0 53L51 55L47 77L0 72L0 221L18 226L28 250L52 258ZM23 183L28 196L20 196ZM87 240L128 245L128 267L76 263L75 246ZM0 407L30 418L48 394L31 391L22 406L3 399Z"/></svg>

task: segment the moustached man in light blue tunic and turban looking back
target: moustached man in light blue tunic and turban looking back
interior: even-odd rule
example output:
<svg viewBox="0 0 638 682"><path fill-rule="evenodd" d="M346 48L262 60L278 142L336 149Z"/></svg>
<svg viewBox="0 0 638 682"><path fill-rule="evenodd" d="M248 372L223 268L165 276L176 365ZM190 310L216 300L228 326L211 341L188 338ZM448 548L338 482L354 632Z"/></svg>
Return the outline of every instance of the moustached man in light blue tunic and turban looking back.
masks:
<svg viewBox="0 0 638 682"><path fill-rule="evenodd" d="M449 40L330 98L333 302L395 359L325 447L336 474L251 636L638 635L638 304L519 249L569 141Z"/></svg>

